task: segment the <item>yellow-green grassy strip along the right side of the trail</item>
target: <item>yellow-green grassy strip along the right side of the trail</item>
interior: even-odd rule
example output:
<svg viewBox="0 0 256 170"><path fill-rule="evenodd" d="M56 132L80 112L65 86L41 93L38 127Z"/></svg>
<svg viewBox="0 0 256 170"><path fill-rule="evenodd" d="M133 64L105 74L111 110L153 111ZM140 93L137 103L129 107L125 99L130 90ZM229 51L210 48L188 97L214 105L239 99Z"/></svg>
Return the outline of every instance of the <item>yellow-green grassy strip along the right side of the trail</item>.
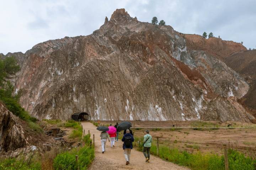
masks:
<svg viewBox="0 0 256 170"><path fill-rule="evenodd" d="M138 150L142 151L142 138L135 138L135 141L140 141ZM199 149L198 145L186 145L186 147ZM156 144L152 143L150 153L156 155ZM191 170L224 170L224 156L214 153L202 153L200 151L189 153L187 151L180 151L177 148L170 148L165 145L159 145L159 157L173 162L178 165L187 166ZM255 170L256 160L246 157L243 153L228 150L229 169L230 170Z"/></svg>

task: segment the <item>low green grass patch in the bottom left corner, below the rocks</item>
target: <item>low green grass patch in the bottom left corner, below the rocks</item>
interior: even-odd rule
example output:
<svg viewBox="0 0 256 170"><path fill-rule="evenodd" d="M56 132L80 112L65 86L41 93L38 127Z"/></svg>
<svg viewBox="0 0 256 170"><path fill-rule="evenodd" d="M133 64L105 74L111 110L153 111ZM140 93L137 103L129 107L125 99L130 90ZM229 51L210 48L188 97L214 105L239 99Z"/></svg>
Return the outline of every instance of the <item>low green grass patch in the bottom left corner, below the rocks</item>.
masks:
<svg viewBox="0 0 256 170"><path fill-rule="evenodd" d="M41 165L35 160L7 158L0 160L0 170L41 170Z"/></svg>

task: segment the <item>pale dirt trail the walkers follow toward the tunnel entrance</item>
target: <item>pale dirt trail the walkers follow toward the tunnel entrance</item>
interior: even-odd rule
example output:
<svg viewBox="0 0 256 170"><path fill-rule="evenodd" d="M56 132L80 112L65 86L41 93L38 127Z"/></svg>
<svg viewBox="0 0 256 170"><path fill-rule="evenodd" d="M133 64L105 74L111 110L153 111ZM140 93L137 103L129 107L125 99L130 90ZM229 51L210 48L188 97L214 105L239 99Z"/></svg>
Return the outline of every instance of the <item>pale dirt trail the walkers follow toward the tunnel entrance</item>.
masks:
<svg viewBox="0 0 256 170"><path fill-rule="evenodd" d="M189 170L188 168L178 166L176 164L166 162L158 157L151 156L150 163L145 162L145 158L142 152L132 149L130 164L125 165L122 141L115 142L115 147L110 147L110 142L107 142L106 152L102 154L101 142L100 142L100 131L96 130L96 127L90 122L82 122L82 126L85 132L95 135L95 160L92 163L90 170Z"/></svg>

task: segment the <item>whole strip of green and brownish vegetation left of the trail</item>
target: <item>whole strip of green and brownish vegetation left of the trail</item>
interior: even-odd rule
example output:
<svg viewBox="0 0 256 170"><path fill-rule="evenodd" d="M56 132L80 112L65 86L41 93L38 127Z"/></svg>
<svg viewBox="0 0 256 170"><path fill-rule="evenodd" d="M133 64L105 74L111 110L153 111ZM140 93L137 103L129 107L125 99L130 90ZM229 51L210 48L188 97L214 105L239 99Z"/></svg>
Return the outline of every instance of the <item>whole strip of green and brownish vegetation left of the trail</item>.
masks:
<svg viewBox="0 0 256 170"><path fill-rule="evenodd" d="M88 165L91 164L94 159L94 147L90 146L92 140L90 135L86 135L83 138L84 146L79 148L73 148L70 151L62 149L52 149L44 155L35 154L31 158L7 158L0 160L0 170L62 170L75 160L75 155L79 156L79 168L80 170L86 170ZM73 162L68 170L76 170L78 165Z"/></svg>

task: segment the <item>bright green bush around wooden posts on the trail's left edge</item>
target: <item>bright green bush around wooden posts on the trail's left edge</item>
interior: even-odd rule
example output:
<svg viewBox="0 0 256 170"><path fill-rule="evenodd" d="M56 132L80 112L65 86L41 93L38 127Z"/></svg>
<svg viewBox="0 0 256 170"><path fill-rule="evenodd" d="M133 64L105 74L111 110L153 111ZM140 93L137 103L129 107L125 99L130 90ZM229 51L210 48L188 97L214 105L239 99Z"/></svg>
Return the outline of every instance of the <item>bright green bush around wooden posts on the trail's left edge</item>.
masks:
<svg viewBox="0 0 256 170"><path fill-rule="evenodd" d="M58 154L53 160L53 167L55 170L62 170L68 166L67 170L75 170L80 168L80 170L86 170L88 165L91 164L94 159L94 147L90 146L91 138L87 134L84 138L85 146L82 148L73 148L71 151L66 151L64 153ZM75 161L75 155L79 155L78 164Z"/></svg>

